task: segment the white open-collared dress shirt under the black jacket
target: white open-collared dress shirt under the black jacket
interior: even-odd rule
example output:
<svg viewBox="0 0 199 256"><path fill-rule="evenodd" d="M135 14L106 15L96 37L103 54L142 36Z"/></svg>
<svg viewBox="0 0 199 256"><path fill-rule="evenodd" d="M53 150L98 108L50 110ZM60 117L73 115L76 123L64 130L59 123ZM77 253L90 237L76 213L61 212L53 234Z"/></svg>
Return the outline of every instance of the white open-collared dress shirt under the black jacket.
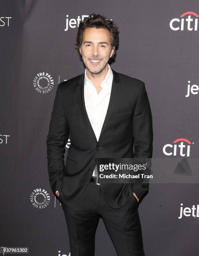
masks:
<svg viewBox="0 0 199 256"><path fill-rule="evenodd" d="M86 75L85 69L85 82L84 82L84 98L85 98L85 107L87 111L88 118L92 125L93 131L99 140L100 133L102 130L102 125L104 123L104 119L107 113L111 88L112 88L112 80L113 73L112 69L108 64L108 72L104 80L101 82L100 87L102 88L99 93L95 89L95 86L92 84L91 80L88 79ZM93 176L95 175L95 169L93 170ZM56 191L57 193L57 191Z"/></svg>

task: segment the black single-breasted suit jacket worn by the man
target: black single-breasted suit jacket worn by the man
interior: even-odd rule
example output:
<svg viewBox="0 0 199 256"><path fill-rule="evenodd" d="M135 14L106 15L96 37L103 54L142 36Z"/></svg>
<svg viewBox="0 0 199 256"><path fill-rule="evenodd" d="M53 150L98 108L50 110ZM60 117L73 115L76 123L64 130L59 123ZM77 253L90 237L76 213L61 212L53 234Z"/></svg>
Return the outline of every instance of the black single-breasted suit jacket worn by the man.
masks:
<svg viewBox="0 0 199 256"><path fill-rule="evenodd" d="M85 74L58 84L46 141L47 160L52 191L55 194L58 190L66 202L76 200L85 191L96 157L152 157L152 114L145 84L113 69L112 72L112 90L98 142L85 108ZM69 135L71 144L64 163ZM100 186L104 200L111 207L119 208L133 192L142 200L149 184Z"/></svg>

